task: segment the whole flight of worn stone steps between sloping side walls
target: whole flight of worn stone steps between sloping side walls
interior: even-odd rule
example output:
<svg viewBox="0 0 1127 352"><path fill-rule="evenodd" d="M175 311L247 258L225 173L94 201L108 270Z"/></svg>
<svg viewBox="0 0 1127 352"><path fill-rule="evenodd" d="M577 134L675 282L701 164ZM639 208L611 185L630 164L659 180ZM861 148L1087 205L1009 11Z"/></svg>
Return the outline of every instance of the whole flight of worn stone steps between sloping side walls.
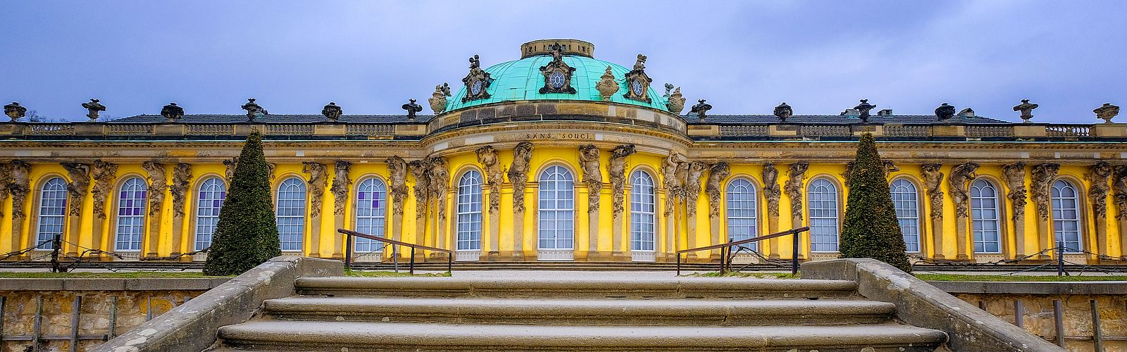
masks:
<svg viewBox="0 0 1127 352"><path fill-rule="evenodd" d="M934 351L853 281L301 278L213 351ZM942 349L941 349L942 350Z"/></svg>

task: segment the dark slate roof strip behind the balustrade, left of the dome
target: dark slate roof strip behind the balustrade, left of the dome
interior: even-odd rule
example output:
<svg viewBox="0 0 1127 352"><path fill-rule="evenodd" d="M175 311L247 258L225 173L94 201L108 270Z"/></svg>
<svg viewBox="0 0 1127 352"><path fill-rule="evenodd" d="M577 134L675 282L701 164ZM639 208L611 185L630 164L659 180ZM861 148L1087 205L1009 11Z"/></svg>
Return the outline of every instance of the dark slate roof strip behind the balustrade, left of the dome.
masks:
<svg viewBox="0 0 1127 352"><path fill-rule="evenodd" d="M434 115L415 115L416 123L424 123L431 121ZM107 123L165 123L168 122L165 116L161 115L136 115L113 121L107 121ZM239 123L247 122L246 114L238 115L184 115L176 122L180 123ZM266 115L261 118L255 118L255 122L266 122L266 123L316 123L316 122L329 122L328 117L325 115ZM337 122L357 122L357 123L405 123L407 121L407 115L340 115L340 120Z"/></svg>

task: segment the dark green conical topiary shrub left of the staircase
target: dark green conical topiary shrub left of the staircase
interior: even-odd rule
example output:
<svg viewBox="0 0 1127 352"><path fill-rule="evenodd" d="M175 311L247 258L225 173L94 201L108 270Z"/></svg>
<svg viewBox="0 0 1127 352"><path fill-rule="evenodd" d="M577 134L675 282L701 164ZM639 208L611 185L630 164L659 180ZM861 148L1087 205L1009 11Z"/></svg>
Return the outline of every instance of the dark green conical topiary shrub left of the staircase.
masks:
<svg viewBox="0 0 1127 352"><path fill-rule="evenodd" d="M238 275L282 254L263 135L247 137L219 212L204 274Z"/></svg>

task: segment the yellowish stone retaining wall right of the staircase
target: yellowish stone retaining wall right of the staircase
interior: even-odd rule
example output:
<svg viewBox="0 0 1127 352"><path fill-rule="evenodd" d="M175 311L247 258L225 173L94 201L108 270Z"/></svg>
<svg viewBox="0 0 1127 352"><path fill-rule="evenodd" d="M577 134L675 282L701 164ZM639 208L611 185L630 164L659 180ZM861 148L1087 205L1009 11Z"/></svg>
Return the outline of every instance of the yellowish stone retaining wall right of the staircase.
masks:
<svg viewBox="0 0 1127 352"><path fill-rule="evenodd" d="M1122 282L929 282L955 297L1056 342L1054 300L1062 303L1065 349L1095 351L1092 300L1099 313L1103 351L1127 351L1127 283Z"/></svg>

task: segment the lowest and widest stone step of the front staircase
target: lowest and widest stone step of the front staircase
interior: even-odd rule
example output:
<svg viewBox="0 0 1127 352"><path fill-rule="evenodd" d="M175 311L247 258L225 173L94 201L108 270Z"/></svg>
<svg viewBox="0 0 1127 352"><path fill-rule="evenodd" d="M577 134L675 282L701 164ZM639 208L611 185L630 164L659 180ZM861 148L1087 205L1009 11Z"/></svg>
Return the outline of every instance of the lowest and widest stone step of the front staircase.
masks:
<svg viewBox="0 0 1127 352"><path fill-rule="evenodd" d="M903 325L540 326L258 320L224 346L269 351L934 351L943 332Z"/></svg>

